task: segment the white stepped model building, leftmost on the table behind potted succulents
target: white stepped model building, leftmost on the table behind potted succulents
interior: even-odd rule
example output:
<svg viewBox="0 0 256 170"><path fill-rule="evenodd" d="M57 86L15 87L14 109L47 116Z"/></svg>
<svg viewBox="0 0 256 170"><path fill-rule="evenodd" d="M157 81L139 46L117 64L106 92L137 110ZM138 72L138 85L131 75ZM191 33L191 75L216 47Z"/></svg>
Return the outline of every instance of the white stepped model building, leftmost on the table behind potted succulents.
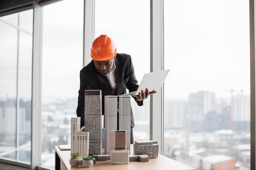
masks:
<svg viewBox="0 0 256 170"><path fill-rule="evenodd" d="M89 154L89 132L80 132L81 117L71 118L71 153L78 153L79 157Z"/></svg>

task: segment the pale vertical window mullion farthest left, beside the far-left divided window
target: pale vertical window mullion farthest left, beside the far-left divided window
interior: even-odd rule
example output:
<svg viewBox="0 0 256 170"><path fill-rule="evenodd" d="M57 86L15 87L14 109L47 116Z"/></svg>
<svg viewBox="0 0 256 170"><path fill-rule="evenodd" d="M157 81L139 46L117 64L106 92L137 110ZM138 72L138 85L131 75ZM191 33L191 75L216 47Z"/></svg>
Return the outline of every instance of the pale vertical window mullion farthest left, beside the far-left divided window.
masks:
<svg viewBox="0 0 256 170"><path fill-rule="evenodd" d="M40 164L40 106L41 106L41 49L42 49L42 7L34 7L32 101L31 101L31 169Z"/></svg>

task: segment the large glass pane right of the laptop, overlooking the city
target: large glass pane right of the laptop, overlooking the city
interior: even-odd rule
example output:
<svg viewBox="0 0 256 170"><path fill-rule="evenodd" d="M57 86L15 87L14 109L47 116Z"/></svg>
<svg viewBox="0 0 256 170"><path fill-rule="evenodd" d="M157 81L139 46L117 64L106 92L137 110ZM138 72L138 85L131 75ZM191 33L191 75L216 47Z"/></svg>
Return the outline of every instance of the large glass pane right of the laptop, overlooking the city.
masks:
<svg viewBox="0 0 256 170"><path fill-rule="evenodd" d="M249 170L249 1L164 0L164 49L164 155Z"/></svg>

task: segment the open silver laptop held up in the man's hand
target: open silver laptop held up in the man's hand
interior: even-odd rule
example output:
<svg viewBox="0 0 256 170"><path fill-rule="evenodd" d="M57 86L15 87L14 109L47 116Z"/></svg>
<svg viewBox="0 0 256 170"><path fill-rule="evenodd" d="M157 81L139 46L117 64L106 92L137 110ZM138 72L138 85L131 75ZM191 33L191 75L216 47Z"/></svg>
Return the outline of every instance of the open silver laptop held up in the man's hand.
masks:
<svg viewBox="0 0 256 170"><path fill-rule="evenodd" d="M164 84L164 80L167 77L169 71L170 69L144 74L137 91L125 93L123 95L139 95L142 90L146 91L146 88L148 88L149 92L159 90Z"/></svg>

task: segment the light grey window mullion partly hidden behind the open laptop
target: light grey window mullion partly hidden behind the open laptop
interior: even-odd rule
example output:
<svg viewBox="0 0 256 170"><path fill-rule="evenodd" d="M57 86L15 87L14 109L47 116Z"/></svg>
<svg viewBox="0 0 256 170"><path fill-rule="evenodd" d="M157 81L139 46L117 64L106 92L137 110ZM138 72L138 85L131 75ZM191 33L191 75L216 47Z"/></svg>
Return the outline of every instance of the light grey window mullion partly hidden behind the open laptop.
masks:
<svg viewBox="0 0 256 170"><path fill-rule="evenodd" d="M162 0L150 1L150 72L163 69ZM159 144L163 153L163 91L150 96L150 140Z"/></svg>

